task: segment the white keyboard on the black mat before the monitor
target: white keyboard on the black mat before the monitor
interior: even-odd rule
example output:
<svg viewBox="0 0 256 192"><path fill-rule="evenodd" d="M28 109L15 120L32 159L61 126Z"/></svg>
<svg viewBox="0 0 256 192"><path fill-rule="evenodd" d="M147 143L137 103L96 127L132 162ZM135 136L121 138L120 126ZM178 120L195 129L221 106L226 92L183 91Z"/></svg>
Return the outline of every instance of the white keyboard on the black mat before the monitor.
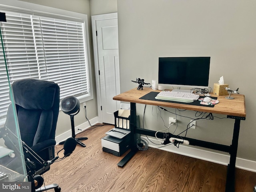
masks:
<svg viewBox="0 0 256 192"><path fill-rule="evenodd" d="M170 97L170 98L178 98L178 99L189 99L196 101L199 98L199 95L193 93L179 93L179 92L172 92L172 91L161 91L157 96L161 97Z"/></svg>

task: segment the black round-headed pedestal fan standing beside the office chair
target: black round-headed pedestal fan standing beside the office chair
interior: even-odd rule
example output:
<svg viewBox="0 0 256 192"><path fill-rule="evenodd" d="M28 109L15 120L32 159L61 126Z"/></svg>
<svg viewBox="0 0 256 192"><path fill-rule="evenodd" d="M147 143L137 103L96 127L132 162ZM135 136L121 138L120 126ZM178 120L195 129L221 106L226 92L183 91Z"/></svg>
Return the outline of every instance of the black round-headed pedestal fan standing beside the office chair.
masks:
<svg viewBox="0 0 256 192"><path fill-rule="evenodd" d="M60 102L60 109L70 116L71 120L71 130L72 130L72 138L76 140L76 143L79 144L82 147L86 147L85 144L80 142L80 140L86 140L87 137L81 137L81 138L75 138L75 125L74 125L74 116L79 113L80 111L80 102L79 100L74 96L68 96L62 99ZM59 144L64 144L64 141L60 142Z"/></svg>

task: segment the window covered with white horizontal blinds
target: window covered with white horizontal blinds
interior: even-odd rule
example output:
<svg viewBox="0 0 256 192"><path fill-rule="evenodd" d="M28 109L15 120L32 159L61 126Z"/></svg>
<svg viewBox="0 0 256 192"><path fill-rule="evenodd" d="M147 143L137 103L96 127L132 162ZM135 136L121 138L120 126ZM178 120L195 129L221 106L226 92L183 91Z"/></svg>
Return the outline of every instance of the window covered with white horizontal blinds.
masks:
<svg viewBox="0 0 256 192"><path fill-rule="evenodd" d="M5 56L10 82L22 78L49 80L60 86L60 98L92 99L90 59L86 49L87 20L1 11ZM46 15L46 16L45 16ZM87 18L87 17L86 17ZM88 26L87 26L88 28ZM9 85L0 51L0 118L6 116ZM80 100L80 102L86 101Z"/></svg>

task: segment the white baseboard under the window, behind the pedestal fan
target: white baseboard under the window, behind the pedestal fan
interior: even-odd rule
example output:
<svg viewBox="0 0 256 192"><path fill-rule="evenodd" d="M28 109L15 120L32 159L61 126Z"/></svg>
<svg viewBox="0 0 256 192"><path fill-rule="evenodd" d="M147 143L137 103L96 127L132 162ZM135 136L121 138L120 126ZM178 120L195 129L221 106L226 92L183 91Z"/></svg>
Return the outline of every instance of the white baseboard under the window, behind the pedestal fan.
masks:
<svg viewBox="0 0 256 192"><path fill-rule="evenodd" d="M98 123L98 117L95 117L95 118L93 118L89 121L90 121L91 125L97 124ZM75 127L75 133L78 134L78 133L90 128L90 124L87 121L87 122L84 122L83 124L80 124L80 125L76 126ZM80 129L80 130L78 130L78 129ZM70 130L68 130L68 131L66 131L66 132L64 132L64 133L62 133L58 136L55 136L56 143L58 144L59 142L65 141L68 138L70 138L71 136L72 136L72 131L71 131L71 127L70 127Z"/></svg>

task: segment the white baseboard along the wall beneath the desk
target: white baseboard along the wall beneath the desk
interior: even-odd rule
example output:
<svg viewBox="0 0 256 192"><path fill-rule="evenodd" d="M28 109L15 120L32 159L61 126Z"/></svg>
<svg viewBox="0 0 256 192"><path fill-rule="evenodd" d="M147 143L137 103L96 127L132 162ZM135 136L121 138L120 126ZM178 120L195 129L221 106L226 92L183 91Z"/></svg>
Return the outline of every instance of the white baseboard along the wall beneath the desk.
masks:
<svg viewBox="0 0 256 192"><path fill-rule="evenodd" d="M148 146L152 148L159 148L160 146L160 145L156 145L158 143L160 144L160 142L156 139L150 138L150 141L156 143L156 144L153 144L145 136L141 136L141 138L144 138L145 140L147 140ZM226 155L226 154L220 154L217 152L211 152L207 150L192 148L190 146L186 146L182 144L180 144L179 148L177 148L174 145L168 145L168 146L161 147L159 149L176 153L176 154L181 154L184 156L189 156L192 158L197 158L197 159L206 160L209 162L222 164L222 165L228 165L229 158L230 158L228 154ZM236 158L236 168L256 172L256 162L242 159L242 158Z"/></svg>

